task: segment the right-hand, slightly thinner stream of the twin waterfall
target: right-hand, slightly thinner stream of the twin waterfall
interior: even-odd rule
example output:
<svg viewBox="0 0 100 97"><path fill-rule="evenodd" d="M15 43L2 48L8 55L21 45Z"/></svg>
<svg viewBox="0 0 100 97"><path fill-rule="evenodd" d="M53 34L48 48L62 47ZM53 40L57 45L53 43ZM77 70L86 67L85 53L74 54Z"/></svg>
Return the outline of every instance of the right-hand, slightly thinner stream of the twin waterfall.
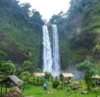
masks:
<svg viewBox="0 0 100 97"><path fill-rule="evenodd" d="M53 75L58 76L60 74L60 56L59 56L59 44L58 44L58 31L57 26L53 27Z"/></svg>

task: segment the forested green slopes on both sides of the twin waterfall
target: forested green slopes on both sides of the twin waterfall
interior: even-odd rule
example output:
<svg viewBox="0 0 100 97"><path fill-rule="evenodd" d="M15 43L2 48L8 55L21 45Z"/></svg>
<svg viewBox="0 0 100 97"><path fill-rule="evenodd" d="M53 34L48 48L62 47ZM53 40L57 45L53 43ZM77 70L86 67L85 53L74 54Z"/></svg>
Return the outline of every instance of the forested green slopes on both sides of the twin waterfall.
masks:
<svg viewBox="0 0 100 97"><path fill-rule="evenodd" d="M22 65L29 60L41 68L44 22L30 8L29 3L0 0L0 61ZM100 71L99 0L71 0L69 10L53 15L49 23L58 26L62 69L87 60Z"/></svg>

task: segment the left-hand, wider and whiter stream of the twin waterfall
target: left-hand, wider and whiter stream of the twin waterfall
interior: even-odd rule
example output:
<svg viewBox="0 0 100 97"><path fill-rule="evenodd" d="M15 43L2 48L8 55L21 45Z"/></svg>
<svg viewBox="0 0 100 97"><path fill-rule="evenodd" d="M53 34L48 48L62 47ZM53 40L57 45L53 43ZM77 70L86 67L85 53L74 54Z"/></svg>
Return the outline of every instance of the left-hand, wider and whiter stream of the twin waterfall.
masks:
<svg viewBox="0 0 100 97"><path fill-rule="evenodd" d="M47 26L43 26L43 72L52 73L52 51Z"/></svg>

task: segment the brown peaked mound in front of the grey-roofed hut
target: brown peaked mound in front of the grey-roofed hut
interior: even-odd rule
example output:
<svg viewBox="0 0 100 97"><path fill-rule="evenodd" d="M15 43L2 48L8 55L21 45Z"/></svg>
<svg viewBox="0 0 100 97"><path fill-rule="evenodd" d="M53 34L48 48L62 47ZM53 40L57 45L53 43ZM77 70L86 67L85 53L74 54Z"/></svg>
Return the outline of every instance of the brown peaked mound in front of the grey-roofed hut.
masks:
<svg viewBox="0 0 100 97"><path fill-rule="evenodd" d="M22 92L18 87L13 87L5 97L23 97Z"/></svg>

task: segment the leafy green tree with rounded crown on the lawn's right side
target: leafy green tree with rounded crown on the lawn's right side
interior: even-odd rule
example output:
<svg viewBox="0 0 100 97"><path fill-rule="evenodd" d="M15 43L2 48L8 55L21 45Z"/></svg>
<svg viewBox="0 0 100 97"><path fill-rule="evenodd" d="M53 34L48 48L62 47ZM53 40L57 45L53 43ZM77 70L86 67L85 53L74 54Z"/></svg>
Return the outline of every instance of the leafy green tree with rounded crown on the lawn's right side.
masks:
<svg viewBox="0 0 100 97"><path fill-rule="evenodd" d="M84 61L77 65L77 70L84 72L84 79L88 89L91 89L93 84L92 76L95 75L96 70L92 67L93 64L88 61Z"/></svg>

